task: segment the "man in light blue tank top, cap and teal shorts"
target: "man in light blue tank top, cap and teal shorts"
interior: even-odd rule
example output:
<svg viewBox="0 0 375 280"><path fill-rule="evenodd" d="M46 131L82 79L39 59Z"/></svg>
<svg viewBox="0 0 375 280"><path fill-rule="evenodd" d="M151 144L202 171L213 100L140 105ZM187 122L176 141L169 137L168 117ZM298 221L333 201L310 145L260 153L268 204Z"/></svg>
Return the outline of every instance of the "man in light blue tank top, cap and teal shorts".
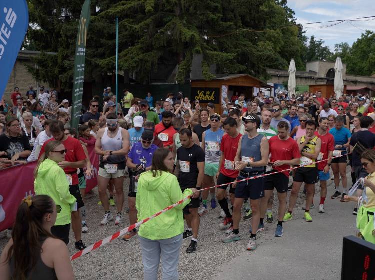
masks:
<svg viewBox="0 0 375 280"><path fill-rule="evenodd" d="M213 114L209 117L211 128L202 134L202 149L204 151L204 179L203 188L215 185L213 176L216 175L220 162L220 144L224 131L220 128L220 116ZM209 190L211 193L211 208L216 208L215 188ZM203 206L199 209L199 216L207 213L208 190L202 191Z"/></svg>

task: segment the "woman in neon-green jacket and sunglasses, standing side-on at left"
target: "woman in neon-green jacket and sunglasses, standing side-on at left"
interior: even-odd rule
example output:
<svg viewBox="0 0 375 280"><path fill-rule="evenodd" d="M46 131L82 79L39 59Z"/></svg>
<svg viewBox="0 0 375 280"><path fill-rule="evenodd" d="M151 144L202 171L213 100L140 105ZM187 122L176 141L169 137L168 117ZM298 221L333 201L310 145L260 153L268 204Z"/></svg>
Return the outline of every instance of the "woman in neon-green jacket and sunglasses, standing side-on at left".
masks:
<svg viewBox="0 0 375 280"><path fill-rule="evenodd" d="M36 195L48 195L56 205L61 206L61 212L57 214L51 232L68 244L71 207L74 208L76 199L69 192L69 182L64 170L57 165L65 160L65 154L66 149L61 142L50 141L45 145L45 153L39 158L34 171L34 188Z"/></svg>

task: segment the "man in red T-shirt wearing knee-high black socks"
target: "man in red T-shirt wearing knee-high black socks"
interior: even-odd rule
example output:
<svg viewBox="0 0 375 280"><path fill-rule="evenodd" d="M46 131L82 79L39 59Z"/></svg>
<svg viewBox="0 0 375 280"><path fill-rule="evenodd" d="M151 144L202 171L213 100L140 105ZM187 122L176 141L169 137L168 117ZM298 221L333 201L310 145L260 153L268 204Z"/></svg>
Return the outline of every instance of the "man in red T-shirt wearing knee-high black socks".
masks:
<svg viewBox="0 0 375 280"><path fill-rule="evenodd" d="M226 134L222 136L220 144L220 162L219 171L216 174L217 184L231 183L238 177L238 171L234 167L234 158L237 153L239 139L242 134L237 130L237 121L234 118L228 117L224 121L224 130ZM228 184L217 187L216 198L219 202L222 211L224 211L226 217L222 220L219 225L220 229L227 229L232 224L232 215L229 211L228 201L226 200L226 189ZM232 205L234 205L234 193L235 189L230 184L229 195ZM229 230L229 233L231 229Z"/></svg>

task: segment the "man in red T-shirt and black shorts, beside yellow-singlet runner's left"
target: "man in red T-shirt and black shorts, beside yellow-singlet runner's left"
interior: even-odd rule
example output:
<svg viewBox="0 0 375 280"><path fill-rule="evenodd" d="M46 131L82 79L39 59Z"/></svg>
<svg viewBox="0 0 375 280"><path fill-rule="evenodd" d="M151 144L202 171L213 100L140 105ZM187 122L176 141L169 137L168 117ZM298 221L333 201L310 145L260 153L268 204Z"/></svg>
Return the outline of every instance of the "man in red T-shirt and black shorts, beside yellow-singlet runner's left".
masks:
<svg viewBox="0 0 375 280"><path fill-rule="evenodd" d="M280 121L277 124L278 135L269 139L269 154L270 160L268 165L272 165L270 172L281 171L289 169L290 165L298 165L301 154L299 152L298 144L288 136L289 124L286 121ZM264 197L261 200L260 217L264 218L265 211L269 198L273 194L273 189L276 188L278 194L278 223L274 235L281 237L283 235L282 221L286 212L286 196L289 183L289 171L276 173L264 177ZM260 225L259 225L260 228ZM264 230L264 225L263 225Z"/></svg>

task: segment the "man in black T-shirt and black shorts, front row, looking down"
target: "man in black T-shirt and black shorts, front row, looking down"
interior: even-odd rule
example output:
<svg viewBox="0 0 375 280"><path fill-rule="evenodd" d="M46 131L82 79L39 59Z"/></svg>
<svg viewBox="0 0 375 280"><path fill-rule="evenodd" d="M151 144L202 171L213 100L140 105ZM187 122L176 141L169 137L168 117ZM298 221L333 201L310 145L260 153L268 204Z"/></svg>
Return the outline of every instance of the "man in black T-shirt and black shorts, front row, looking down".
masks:
<svg viewBox="0 0 375 280"><path fill-rule="evenodd" d="M179 131L181 147L177 149L177 160L175 175L178 178L182 192L186 188L195 187L201 189L204 178L204 151L192 140L190 129L183 128ZM186 219L187 230L183 233L183 239L192 236L190 245L186 249L187 253L195 252L198 245L199 231L199 192L196 192L190 203L183 209Z"/></svg>

